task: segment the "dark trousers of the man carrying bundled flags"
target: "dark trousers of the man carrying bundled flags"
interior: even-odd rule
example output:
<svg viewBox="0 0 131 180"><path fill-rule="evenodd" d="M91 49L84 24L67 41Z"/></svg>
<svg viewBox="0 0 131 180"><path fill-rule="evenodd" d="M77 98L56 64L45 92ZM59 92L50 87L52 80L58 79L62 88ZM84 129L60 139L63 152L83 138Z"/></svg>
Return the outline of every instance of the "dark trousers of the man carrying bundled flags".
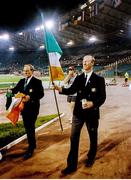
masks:
<svg viewBox="0 0 131 180"><path fill-rule="evenodd" d="M24 127L27 134L28 144L29 144L29 150L34 150L36 148L36 139L35 139L35 122L37 119L37 114L27 114L23 113L23 122Z"/></svg>

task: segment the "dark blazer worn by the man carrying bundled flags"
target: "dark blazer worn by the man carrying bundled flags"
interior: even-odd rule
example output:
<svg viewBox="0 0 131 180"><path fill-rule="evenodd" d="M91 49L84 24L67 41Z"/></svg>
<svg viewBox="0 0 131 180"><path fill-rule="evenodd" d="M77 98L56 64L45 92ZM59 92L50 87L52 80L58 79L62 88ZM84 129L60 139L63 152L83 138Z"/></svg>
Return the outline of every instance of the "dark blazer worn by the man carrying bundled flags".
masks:
<svg viewBox="0 0 131 180"><path fill-rule="evenodd" d="M41 80L32 77L28 83L26 89L24 90L25 78L21 79L18 84L12 89L12 93L16 94L18 92L24 93L30 96L30 100L25 103L23 113L39 113L40 99L44 96L44 89Z"/></svg>

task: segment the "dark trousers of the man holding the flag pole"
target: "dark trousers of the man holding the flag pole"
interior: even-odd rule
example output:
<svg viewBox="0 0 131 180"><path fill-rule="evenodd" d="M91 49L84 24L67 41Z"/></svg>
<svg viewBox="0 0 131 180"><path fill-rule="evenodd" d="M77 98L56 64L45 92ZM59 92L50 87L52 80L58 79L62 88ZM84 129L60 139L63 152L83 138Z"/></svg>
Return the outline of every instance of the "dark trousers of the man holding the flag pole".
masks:
<svg viewBox="0 0 131 180"><path fill-rule="evenodd" d="M84 125L84 122L86 123L89 139L90 139L90 149L87 156L90 160L93 160L96 156L98 120L97 123L93 125L92 123L90 124L88 120L84 121L74 116L72 122L72 129L71 129L71 138L70 138L71 147L67 158L67 165L70 168L74 168L74 169L77 168L80 132Z"/></svg>

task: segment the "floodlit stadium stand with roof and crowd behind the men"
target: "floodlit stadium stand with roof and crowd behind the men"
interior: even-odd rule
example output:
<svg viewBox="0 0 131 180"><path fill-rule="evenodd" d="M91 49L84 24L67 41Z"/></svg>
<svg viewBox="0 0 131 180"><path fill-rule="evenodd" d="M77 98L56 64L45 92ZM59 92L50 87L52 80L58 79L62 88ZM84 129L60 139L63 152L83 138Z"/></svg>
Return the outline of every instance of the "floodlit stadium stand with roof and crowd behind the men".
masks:
<svg viewBox="0 0 131 180"><path fill-rule="evenodd" d="M129 64L131 59L128 29L131 4L129 0L121 0L115 5L112 2L87 1L56 19L57 28L52 31L63 50L60 61L64 71L69 65L81 71L83 56L92 54L96 58L95 71L98 73L113 76L117 62L118 75L125 71L130 74L130 68L123 65ZM25 63L48 73L47 54L45 49L40 50L44 45L42 29L28 28L22 33L10 32L9 36L10 39L4 43L0 41L0 73L21 73ZM96 41L90 42L92 36ZM73 42L71 46L68 45L70 40ZM11 45L15 51L9 52Z"/></svg>

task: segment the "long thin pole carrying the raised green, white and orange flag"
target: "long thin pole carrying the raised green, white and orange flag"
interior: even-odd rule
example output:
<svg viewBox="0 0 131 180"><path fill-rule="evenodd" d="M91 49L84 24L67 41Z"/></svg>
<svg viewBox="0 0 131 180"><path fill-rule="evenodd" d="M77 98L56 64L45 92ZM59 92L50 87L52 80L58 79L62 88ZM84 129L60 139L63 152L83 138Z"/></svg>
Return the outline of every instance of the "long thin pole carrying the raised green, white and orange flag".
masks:
<svg viewBox="0 0 131 180"><path fill-rule="evenodd" d="M42 18L42 24L44 24L44 30L43 30L43 31L44 31L45 41L47 41L46 35L45 35L46 29L45 29L44 17L43 17L43 14L42 14L42 13L41 13L41 18ZM46 45L46 43L45 43L45 45ZM46 48L46 51L47 51L47 48ZM50 64L48 52L47 52L47 55L48 55L48 62L49 62L51 82L52 82L52 85L54 85L53 76L52 76L52 70L51 70L51 64ZM58 106L58 101L57 101L55 89L53 89L53 93L54 93L54 98L55 98L56 108L57 108L57 112L58 112L58 117L59 117L59 122L60 122L61 131L63 132L63 126L62 126L62 121L61 121L61 117L60 117L60 111L59 111L59 106Z"/></svg>

